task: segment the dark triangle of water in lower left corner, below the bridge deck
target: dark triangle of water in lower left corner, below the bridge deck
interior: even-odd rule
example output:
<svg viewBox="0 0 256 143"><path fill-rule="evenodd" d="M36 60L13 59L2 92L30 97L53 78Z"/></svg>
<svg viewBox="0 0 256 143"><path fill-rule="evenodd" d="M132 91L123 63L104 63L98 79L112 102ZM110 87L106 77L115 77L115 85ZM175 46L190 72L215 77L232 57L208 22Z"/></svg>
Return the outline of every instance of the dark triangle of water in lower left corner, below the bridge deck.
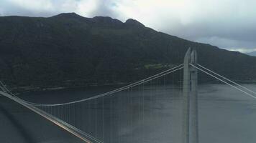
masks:
<svg viewBox="0 0 256 143"><path fill-rule="evenodd" d="M0 95L1 143L81 143L82 140L30 109Z"/></svg>

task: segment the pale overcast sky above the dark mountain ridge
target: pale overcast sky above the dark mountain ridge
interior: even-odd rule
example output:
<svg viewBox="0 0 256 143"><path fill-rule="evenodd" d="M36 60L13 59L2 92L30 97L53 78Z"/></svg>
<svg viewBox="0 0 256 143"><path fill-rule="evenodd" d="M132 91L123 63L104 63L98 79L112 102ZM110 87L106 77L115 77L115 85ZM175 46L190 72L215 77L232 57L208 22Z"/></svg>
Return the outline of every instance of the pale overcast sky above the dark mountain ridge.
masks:
<svg viewBox="0 0 256 143"><path fill-rule="evenodd" d="M256 0L0 0L0 16L132 18L157 31L242 52L256 51Z"/></svg>

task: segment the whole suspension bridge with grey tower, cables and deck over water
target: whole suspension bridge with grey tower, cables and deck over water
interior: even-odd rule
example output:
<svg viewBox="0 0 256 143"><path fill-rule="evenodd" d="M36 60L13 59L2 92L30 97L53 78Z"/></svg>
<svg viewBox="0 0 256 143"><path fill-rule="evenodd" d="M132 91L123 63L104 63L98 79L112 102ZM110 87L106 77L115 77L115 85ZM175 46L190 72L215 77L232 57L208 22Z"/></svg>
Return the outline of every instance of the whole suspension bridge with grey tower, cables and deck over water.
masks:
<svg viewBox="0 0 256 143"><path fill-rule="evenodd" d="M256 99L252 89L199 64L196 50L191 48L183 64L110 92L71 102L32 102L13 94L2 82L0 94L83 142L198 143L198 71ZM167 114L170 120L159 118L160 114Z"/></svg>

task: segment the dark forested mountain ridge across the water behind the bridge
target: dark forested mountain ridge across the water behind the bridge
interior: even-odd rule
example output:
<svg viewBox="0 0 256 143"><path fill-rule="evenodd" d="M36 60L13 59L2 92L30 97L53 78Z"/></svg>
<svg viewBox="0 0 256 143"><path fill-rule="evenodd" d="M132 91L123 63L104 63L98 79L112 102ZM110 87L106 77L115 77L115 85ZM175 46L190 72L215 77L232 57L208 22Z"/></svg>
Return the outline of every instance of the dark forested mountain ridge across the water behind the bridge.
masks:
<svg viewBox="0 0 256 143"><path fill-rule="evenodd" d="M254 56L180 39L134 19L1 16L0 28L0 79L13 86L134 82L183 63L189 46L209 69L231 79L256 79Z"/></svg>

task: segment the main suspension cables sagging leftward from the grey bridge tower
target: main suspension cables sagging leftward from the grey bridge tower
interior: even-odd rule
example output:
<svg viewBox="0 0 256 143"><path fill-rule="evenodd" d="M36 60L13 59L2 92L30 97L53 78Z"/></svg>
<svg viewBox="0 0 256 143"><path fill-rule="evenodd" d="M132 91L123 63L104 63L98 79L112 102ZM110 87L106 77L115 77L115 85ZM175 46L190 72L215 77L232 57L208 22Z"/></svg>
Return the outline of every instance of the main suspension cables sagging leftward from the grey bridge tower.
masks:
<svg viewBox="0 0 256 143"><path fill-rule="evenodd" d="M171 69L168 69L168 70L166 70L166 71L162 71L162 72L160 72L159 74L155 74L155 75L153 75L153 76L151 76L151 77L147 77L146 79L142 79L142 80L140 80L140 81L138 81L138 82L134 82L134 83L132 83L132 84L129 84L129 85L127 85L127 86L124 86L124 87L121 87L121 88L119 88L119 89L114 89L114 90L112 90L112 91L110 91L110 92L106 92L106 93L103 93L103 94L99 94L99 95L96 95L96 96L93 96L93 97L88 97L88 98L86 98L86 99L80 99L80 100L77 100L77 101L74 101L74 102L65 102L65 103L60 103L60 104L39 104L39 103L34 103L34 102L28 102L28 101L25 101L25 100L23 100L24 102L26 102L27 104L32 104L32 105L34 105L35 107L56 107L56 106L61 106L61 105L65 105L65 104L76 104L76 103L78 103L78 102L86 102L86 101L89 101L89 100L92 100L92 99L98 99L98 98L100 98L100 97L105 97L105 96L107 96L107 95L110 95L111 96L111 94L115 94L116 92L121 92L121 91L124 91L125 89L129 89L129 88L131 88L131 87L135 87L135 86L137 86L137 85L140 85L140 84L143 84L143 83L145 83L145 82L149 82L149 81L151 81L151 80L153 80L153 79L157 79L157 78L159 78L159 77L163 77L163 76L165 76L165 75L167 75L167 74L170 74L170 73L173 73L174 71L178 71L178 70L180 70L180 69L183 69L183 64L180 64L180 65L178 65L178 66L175 66L175 67L173 67L173 68L171 68ZM19 98L19 97L18 97ZM20 99L20 98L19 98Z"/></svg>

